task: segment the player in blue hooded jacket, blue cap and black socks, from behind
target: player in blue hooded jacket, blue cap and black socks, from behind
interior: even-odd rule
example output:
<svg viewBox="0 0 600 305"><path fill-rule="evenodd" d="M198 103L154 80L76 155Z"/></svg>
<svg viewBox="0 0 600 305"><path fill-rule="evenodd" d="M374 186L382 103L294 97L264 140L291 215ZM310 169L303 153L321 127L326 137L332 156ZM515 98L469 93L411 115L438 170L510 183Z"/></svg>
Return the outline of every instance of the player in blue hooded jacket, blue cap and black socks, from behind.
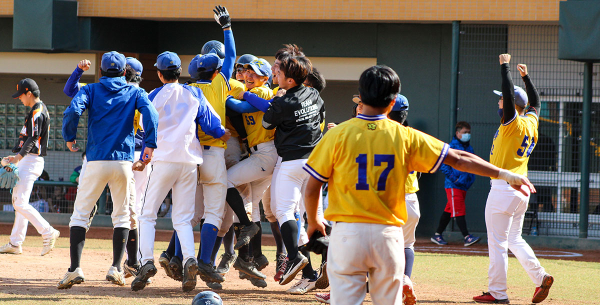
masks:
<svg viewBox="0 0 600 305"><path fill-rule="evenodd" d="M134 151L134 132L131 126L136 109L143 115L146 131L143 155L146 161L152 158L152 152L156 148L158 113L143 89L125 82L125 56L115 51L104 53L100 73L103 75L100 82L80 88L65 110L62 121L62 136L67 147L70 151L78 151L79 148L74 146L77 123L83 111L89 109L86 151L88 165L80 178L80 188L69 223L71 267L56 285L58 289L71 288L85 279L79 264L86 229L95 203L107 183L113 198L112 219L115 231L113 263L106 279L115 285L125 285L121 260L131 226L131 166ZM110 126L110 130L106 126Z"/></svg>

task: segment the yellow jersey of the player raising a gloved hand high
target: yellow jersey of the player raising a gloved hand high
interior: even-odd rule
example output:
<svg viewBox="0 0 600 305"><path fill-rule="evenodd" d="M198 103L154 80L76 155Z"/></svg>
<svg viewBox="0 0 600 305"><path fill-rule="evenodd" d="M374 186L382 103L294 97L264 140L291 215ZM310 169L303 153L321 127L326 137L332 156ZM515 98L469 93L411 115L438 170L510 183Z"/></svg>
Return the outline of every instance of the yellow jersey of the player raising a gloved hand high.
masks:
<svg viewBox="0 0 600 305"><path fill-rule="evenodd" d="M217 76L211 81L198 80L196 83L190 83L190 86L195 86L202 89L202 93L211 104L219 118L221 119L221 125L225 126L225 100L231 87L229 85L229 77L226 77L222 72L219 72ZM198 126L198 139L200 144L217 146L227 148L227 143L221 139L215 139L202 131L202 128Z"/></svg>

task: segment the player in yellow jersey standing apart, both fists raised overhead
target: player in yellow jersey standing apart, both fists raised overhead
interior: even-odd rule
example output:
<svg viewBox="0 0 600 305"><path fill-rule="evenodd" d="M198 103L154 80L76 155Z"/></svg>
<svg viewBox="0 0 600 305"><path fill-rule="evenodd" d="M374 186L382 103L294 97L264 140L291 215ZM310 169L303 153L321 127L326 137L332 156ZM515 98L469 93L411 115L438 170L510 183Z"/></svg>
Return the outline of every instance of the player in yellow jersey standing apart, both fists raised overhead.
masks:
<svg viewBox="0 0 600 305"><path fill-rule="evenodd" d="M494 134L490 163L508 169L511 174L527 175L529 155L538 141L538 113L541 103L538 90L527 74L526 65L518 64L517 68L527 93L521 87L513 85L509 61L511 55L500 55L502 92L494 93L500 95L498 113L501 116L501 124ZM509 303L506 293L506 271L510 249L536 286L532 303L544 301L554 278L539 264L535 253L521 237L529 196L511 189L501 177L492 177L490 184L490 195L485 202L485 226L490 253L489 291L473 297L473 300L478 303Z"/></svg>

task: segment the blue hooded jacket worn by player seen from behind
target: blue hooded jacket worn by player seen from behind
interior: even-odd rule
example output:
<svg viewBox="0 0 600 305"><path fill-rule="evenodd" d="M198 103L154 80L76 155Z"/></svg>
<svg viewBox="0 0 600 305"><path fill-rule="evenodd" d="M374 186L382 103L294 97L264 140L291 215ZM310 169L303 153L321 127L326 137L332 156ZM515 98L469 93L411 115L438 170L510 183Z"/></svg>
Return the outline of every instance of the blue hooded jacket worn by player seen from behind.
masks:
<svg viewBox="0 0 600 305"><path fill-rule="evenodd" d="M125 77L101 77L80 88L63 113L62 137L72 142L79 117L88 110L88 161L133 161L133 116L142 113L146 147L156 148L158 113L142 88L128 85Z"/></svg>

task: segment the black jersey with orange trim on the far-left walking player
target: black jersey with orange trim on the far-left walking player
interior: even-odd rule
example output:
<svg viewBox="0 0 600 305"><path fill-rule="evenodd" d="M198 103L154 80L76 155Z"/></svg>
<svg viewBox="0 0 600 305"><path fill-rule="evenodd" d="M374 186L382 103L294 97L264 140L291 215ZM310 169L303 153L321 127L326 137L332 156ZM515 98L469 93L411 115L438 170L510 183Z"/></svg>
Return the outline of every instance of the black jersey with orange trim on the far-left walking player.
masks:
<svg viewBox="0 0 600 305"><path fill-rule="evenodd" d="M31 111L25 118L25 125L19 133L19 141L14 146L13 153L19 153L23 157L28 153L46 156L49 127L48 109L39 101L31 107Z"/></svg>

